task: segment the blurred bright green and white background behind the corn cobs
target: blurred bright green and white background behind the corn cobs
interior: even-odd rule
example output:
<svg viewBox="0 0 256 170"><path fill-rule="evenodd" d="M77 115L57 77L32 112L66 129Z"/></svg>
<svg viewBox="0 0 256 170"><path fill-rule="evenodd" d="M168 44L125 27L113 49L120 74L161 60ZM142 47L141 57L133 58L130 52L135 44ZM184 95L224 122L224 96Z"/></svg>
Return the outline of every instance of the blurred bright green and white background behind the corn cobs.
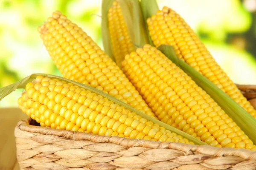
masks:
<svg viewBox="0 0 256 170"><path fill-rule="evenodd" d="M59 10L102 47L101 0L0 0L0 88L32 73L61 75L38 26ZM177 11L235 83L256 84L256 0L158 0ZM96 14L96 15L95 15ZM17 90L0 107L17 107Z"/></svg>

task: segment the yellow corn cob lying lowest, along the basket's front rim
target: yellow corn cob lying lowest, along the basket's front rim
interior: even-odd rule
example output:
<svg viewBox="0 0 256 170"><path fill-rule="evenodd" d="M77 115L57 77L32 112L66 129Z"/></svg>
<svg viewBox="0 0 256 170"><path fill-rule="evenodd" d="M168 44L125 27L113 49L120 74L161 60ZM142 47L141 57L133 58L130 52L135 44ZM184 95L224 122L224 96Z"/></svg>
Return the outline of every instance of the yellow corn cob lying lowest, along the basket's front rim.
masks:
<svg viewBox="0 0 256 170"><path fill-rule="evenodd" d="M41 126L130 139L192 143L72 83L38 76L25 90L18 99L19 108Z"/></svg>

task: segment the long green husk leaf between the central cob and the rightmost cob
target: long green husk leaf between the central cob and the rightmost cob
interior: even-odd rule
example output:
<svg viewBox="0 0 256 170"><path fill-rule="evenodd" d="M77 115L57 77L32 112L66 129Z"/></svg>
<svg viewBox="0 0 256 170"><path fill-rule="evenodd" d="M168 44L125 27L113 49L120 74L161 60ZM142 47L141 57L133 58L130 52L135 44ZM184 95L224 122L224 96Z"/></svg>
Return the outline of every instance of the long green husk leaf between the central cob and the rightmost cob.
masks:
<svg viewBox="0 0 256 170"><path fill-rule="evenodd" d="M188 74L195 83L209 94L215 102L233 119L234 122L244 131L244 133L256 144L256 119L253 118L247 111L239 106L233 99L225 94L220 88L201 75L194 68L190 67L186 62L179 59L175 50L170 45L160 45L158 48L166 55L173 63L180 67Z"/></svg>

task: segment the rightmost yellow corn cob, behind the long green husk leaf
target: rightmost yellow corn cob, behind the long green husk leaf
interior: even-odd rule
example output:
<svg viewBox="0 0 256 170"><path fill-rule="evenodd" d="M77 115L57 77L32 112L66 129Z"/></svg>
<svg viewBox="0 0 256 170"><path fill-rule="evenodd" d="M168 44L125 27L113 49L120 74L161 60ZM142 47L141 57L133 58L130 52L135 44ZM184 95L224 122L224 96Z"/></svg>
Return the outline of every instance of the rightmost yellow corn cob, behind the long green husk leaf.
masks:
<svg viewBox="0 0 256 170"><path fill-rule="evenodd" d="M163 7L162 11L157 11L157 14L147 19L147 24L151 40L156 47L161 44L172 45L177 57L207 77L256 118L256 110L215 62L207 48L179 14L168 7Z"/></svg>

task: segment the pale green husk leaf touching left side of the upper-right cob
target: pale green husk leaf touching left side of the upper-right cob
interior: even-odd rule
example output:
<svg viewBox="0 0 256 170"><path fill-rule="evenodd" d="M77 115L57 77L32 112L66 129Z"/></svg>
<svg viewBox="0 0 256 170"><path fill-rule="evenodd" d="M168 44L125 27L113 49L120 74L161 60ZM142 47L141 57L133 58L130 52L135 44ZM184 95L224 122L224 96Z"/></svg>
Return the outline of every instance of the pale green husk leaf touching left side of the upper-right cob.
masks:
<svg viewBox="0 0 256 170"><path fill-rule="evenodd" d="M156 0L141 0L140 5L141 5L142 13L143 13L143 18L144 18L145 30L148 35L148 42L150 45L154 46L154 44L150 38L149 32L148 32L147 19L149 17L151 17L152 15L156 14L157 11L159 10L157 1Z"/></svg>

